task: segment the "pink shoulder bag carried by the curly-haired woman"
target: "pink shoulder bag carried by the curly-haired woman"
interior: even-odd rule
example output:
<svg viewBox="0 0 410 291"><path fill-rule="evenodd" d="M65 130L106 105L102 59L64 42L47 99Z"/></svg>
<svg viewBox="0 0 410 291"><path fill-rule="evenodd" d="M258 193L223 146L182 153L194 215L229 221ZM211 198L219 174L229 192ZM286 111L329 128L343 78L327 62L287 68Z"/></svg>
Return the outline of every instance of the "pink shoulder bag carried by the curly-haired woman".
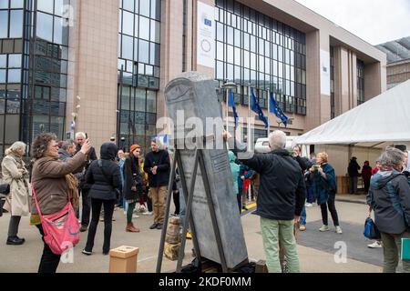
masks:
<svg viewBox="0 0 410 291"><path fill-rule="evenodd" d="M68 191L68 202L63 209L52 215L43 216L38 206L33 182L31 186L37 212L41 219L41 225L43 226L44 241L54 254L62 255L71 247L76 246L80 239L78 219L70 202L70 193Z"/></svg>

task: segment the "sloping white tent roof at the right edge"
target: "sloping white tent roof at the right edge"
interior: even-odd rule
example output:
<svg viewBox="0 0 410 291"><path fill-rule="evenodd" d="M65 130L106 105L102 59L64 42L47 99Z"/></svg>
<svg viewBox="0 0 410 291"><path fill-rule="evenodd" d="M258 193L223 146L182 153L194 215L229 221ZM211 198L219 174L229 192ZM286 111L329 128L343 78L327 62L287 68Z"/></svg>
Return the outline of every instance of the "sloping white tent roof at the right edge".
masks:
<svg viewBox="0 0 410 291"><path fill-rule="evenodd" d="M320 125L293 143L374 147L410 141L410 80Z"/></svg>

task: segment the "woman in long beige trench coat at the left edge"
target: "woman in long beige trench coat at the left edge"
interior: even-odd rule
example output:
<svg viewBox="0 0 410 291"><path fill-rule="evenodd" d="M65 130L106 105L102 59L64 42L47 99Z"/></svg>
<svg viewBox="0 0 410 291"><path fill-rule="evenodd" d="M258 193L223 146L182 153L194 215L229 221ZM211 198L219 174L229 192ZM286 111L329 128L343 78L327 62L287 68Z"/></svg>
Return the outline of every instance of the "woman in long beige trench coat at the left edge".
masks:
<svg viewBox="0 0 410 291"><path fill-rule="evenodd" d="M28 216L31 201L31 186L23 156L26 145L15 142L5 151L2 174L5 183L10 185L10 194L5 198L5 209L11 213L8 227L7 245L23 245L24 238L17 236L21 216Z"/></svg>

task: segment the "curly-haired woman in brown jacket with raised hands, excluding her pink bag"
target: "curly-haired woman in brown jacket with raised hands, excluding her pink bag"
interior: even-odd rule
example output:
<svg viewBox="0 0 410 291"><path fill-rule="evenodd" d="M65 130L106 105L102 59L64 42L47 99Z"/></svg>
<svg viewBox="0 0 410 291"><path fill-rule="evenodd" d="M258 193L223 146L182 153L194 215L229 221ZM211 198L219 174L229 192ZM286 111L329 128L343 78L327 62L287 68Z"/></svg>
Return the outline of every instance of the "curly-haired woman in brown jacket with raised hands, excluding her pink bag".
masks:
<svg viewBox="0 0 410 291"><path fill-rule="evenodd" d="M63 162L58 156L56 135L45 133L36 136L32 146L32 157L35 160L32 186L36 191L36 199L42 215L52 215L66 206L68 192L71 203L74 208L77 207L78 182L71 173L86 164L86 154L89 148L89 142L86 141L76 156ZM41 226L34 199L31 203L31 212L30 223L38 228L44 241L43 226ZM59 261L60 256L55 255L45 243L38 272L56 273Z"/></svg>

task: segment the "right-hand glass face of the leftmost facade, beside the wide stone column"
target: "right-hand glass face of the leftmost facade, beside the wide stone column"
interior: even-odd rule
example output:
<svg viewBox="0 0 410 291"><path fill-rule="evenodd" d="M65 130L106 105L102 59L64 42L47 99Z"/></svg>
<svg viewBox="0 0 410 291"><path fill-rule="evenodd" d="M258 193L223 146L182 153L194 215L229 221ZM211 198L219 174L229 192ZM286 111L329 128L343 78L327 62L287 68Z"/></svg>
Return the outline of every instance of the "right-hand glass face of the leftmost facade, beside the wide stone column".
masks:
<svg viewBox="0 0 410 291"><path fill-rule="evenodd" d="M68 26L62 17L67 0L36 1L36 39L33 40L34 78L28 104L31 136L50 131L64 138L67 102ZM34 82L34 84L32 84Z"/></svg>

